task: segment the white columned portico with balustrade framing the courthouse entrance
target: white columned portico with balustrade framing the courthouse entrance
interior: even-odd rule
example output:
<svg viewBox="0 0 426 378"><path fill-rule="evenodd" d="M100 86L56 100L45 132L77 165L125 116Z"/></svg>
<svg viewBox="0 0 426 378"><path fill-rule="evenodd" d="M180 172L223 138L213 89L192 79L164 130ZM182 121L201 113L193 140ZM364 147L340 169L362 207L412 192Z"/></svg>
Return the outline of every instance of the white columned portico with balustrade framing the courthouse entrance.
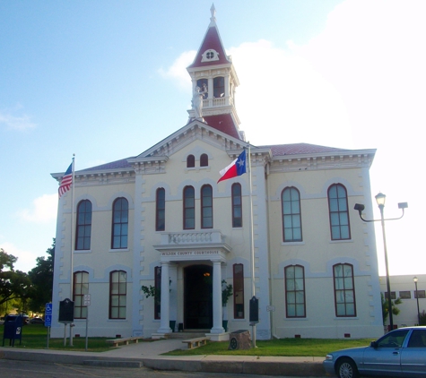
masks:
<svg viewBox="0 0 426 378"><path fill-rule="evenodd" d="M161 253L161 323L158 333L170 333L170 266L187 262L204 263L213 267L212 308L213 327L210 334L213 339L221 339L225 333L222 327L222 264L225 264L230 245L218 230L205 232L187 231L162 233L161 245L154 245Z"/></svg>

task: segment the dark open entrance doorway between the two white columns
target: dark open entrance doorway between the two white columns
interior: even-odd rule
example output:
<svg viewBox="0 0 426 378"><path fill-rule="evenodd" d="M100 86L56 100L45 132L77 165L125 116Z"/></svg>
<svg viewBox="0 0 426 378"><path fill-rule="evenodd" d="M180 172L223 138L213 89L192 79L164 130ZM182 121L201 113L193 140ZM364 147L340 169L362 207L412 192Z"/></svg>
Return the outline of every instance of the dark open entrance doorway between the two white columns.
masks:
<svg viewBox="0 0 426 378"><path fill-rule="evenodd" d="M213 327L213 267L192 265L185 268L184 303L185 329Z"/></svg>

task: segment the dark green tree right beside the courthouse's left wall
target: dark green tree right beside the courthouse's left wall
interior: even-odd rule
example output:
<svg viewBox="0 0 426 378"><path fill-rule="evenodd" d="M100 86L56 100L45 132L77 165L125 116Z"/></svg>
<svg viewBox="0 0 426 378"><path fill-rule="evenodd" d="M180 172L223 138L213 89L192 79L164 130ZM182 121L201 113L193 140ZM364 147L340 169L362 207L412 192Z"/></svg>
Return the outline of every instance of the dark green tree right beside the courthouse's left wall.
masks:
<svg viewBox="0 0 426 378"><path fill-rule="evenodd" d="M45 305L52 301L55 246L56 240L54 238L52 246L46 251L48 257L38 257L36 259L36 267L28 272L33 288L29 308L35 313L41 312Z"/></svg>

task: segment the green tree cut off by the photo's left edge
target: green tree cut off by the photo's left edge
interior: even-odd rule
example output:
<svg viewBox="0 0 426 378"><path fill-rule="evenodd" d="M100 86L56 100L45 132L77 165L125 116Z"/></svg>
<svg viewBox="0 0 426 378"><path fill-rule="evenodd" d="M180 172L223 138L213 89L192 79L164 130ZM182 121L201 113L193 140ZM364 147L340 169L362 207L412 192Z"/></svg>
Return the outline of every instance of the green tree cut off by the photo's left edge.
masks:
<svg viewBox="0 0 426 378"><path fill-rule="evenodd" d="M13 299L30 296L31 281L27 273L14 271L13 264L18 260L13 254L0 248L0 305Z"/></svg>

